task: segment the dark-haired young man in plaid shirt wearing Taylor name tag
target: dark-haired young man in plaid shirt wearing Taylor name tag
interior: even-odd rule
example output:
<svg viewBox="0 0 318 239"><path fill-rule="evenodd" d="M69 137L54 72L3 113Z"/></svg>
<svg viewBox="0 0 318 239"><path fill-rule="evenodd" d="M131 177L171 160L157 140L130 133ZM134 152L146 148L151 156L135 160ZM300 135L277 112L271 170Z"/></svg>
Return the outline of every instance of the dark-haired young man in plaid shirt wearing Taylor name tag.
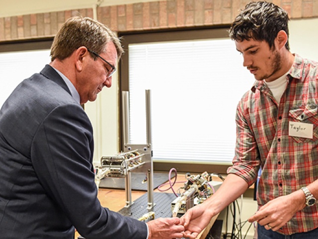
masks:
<svg viewBox="0 0 318 239"><path fill-rule="evenodd" d="M218 191L182 218L194 239L210 219L262 174L257 191L258 238L318 238L318 63L292 54L287 12L250 2L230 37L256 82L239 102L233 166ZM285 237L287 236L287 237Z"/></svg>

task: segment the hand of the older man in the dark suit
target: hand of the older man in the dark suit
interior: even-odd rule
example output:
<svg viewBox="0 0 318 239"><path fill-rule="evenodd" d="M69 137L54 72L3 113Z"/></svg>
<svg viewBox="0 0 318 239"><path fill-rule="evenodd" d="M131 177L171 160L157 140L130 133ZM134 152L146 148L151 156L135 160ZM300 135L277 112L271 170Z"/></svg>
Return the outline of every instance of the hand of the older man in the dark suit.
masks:
<svg viewBox="0 0 318 239"><path fill-rule="evenodd" d="M182 238L184 227L179 218L158 218L148 222L148 239L174 239Z"/></svg>

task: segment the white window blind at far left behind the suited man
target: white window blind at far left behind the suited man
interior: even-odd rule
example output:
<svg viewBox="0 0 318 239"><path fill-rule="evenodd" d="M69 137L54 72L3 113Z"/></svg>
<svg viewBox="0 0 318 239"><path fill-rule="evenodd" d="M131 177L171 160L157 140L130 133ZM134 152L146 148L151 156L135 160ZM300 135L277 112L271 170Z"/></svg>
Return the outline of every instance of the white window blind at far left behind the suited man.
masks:
<svg viewBox="0 0 318 239"><path fill-rule="evenodd" d="M0 108L21 81L50 61L50 50L0 53Z"/></svg>

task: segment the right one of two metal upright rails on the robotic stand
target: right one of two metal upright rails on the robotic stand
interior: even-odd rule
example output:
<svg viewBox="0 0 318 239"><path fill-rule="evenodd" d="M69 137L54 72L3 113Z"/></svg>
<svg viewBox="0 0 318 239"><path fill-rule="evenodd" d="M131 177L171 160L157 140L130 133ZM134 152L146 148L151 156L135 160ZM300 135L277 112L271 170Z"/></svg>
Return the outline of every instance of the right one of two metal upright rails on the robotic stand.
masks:
<svg viewBox="0 0 318 239"><path fill-rule="evenodd" d="M151 134L151 91L146 90L146 130L147 130L147 144L151 147L152 134ZM150 169L148 170L148 210L151 210L154 204L154 167L153 167L153 151L150 156Z"/></svg>

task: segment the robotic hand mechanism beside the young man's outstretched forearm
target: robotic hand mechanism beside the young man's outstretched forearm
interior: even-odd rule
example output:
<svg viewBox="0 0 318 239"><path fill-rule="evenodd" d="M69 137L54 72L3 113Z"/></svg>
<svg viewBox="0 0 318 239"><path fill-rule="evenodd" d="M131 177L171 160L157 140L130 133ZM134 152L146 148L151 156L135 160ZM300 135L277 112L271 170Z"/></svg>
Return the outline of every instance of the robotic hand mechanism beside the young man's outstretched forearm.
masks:
<svg viewBox="0 0 318 239"><path fill-rule="evenodd" d="M172 217L184 214L188 209L203 203L221 186L222 182L212 181L212 175L207 172L201 175L186 175L183 193L171 202Z"/></svg>

